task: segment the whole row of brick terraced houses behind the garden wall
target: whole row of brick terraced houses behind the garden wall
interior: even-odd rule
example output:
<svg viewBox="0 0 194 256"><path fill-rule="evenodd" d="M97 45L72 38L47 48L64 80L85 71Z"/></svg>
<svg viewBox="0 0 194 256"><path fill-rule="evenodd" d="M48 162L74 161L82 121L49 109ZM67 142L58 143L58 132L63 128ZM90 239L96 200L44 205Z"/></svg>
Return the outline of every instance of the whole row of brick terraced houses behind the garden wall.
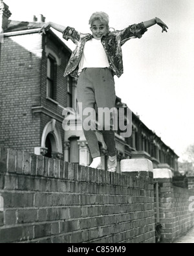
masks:
<svg viewBox="0 0 194 256"><path fill-rule="evenodd" d="M83 131L65 132L62 126L63 110L76 110L76 79L63 76L70 49L52 30L44 36L38 33L45 17L24 22L12 21L10 16L1 0L4 41L0 42L0 147L89 165L91 156ZM117 97L116 108L121 107L127 109ZM131 137L116 132L118 161L143 157L153 161L154 168L177 170L177 154L138 116L132 113L132 117ZM81 126L77 119L76 124ZM98 139L105 169L107 151L100 132Z"/></svg>

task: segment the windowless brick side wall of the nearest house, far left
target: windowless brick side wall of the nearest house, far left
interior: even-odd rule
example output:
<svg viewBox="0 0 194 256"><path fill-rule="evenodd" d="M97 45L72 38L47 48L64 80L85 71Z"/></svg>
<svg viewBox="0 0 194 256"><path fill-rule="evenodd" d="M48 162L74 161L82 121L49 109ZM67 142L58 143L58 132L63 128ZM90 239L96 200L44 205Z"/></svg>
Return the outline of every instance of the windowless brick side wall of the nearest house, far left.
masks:
<svg viewBox="0 0 194 256"><path fill-rule="evenodd" d="M38 34L5 37L0 63L0 146L32 151L39 145L41 38Z"/></svg>

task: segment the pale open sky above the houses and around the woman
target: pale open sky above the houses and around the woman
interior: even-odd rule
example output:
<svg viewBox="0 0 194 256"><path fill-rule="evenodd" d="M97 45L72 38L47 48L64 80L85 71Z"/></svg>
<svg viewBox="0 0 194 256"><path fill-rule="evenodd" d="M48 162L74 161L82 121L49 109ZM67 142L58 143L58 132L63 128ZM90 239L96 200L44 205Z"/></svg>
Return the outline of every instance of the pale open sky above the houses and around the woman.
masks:
<svg viewBox="0 0 194 256"><path fill-rule="evenodd" d="M46 21L89 30L93 12L109 14L110 27L124 29L159 17L168 32L155 25L141 39L122 47L124 75L115 77L116 95L166 145L184 158L194 143L194 1L193 0L5 0L10 19L32 21L43 14ZM61 35L59 35L61 36ZM65 40L64 40L65 41ZM72 42L65 41L70 49Z"/></svg>

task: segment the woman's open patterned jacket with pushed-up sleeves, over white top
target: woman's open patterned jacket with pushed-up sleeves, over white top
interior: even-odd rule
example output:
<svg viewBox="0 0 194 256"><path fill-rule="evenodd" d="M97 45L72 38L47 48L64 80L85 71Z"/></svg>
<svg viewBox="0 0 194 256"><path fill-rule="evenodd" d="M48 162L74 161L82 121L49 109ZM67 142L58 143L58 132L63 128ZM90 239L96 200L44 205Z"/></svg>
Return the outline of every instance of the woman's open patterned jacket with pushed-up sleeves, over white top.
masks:
<svg viewBox="0 0 194 256"><path fill-rule="evenodd" d="M109 32L103 36L101 41L103 48L107 54L113 75L120 77L124 73L122 61L122 45L131 38L141 38L142 34L147 31L144 23L130 25L124 30L116 30ZM71 75L78 77L78 66L83 54L85 43L92 39L92 34L81 34L72 27L67 27L63 31L65 40L72 40L76 44L76 49L70 56L69 63L65 69L64 76Z"/></svg>

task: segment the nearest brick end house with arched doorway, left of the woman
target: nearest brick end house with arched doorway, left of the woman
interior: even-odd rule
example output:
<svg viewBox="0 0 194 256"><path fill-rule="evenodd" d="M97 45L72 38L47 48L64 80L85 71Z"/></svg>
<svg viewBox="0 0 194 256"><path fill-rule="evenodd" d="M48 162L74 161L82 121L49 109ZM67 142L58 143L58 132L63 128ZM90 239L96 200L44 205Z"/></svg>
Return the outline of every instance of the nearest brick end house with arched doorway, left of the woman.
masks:
<svg viewBox="0 0 194 256"><path fill-rule="evenodd" d="M7 14L5 5L4 21ZM63 158L61 113L71 104L67 90L73 82L63 72L71 51L51 30L38 33L40 18L3 23L0 145L36 153L52 146L52 156Z"/></svg>

